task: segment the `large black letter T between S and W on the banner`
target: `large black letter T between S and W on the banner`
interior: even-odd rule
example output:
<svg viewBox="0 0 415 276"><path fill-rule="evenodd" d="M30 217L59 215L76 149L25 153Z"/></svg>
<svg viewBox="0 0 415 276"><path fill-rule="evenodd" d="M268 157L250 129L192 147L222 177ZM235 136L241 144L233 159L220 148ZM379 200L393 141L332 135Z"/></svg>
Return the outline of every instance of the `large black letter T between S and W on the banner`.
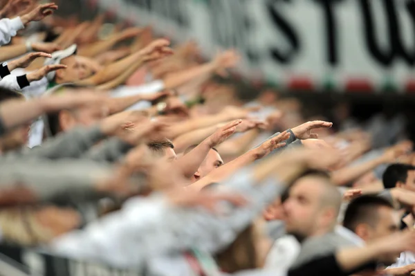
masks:
<svg viewBox="0 0 415 276"><path fill-rule="evenodd" d="M326 25L327 62L331 66L339 64L338 54L338 24L335 17L335 5L342 0L315 0L322 5Z"/></svg>

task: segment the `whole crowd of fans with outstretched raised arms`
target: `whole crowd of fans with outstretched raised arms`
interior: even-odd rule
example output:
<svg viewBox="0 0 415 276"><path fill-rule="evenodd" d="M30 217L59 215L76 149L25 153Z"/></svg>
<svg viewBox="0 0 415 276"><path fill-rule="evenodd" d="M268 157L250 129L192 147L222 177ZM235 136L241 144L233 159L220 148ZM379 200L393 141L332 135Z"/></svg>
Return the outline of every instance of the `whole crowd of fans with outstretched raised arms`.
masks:
<svg viewBox="0 0 415 276"><path fill-rule="evenodd" d="M3 245L149 276L415 270L400 127L344 107L333 126L267 87L243 100L232 49L203 63L149 27L0 3Z"/></svg>

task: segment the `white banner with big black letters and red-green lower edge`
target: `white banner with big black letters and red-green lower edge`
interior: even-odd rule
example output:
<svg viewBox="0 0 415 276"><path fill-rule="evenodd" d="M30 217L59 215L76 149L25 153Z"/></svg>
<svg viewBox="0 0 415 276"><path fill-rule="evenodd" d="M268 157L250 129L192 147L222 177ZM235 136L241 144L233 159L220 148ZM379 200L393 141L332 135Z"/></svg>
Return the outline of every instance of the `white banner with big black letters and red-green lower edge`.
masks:
<svg viewBox="0 0 415 276"><path fill-rule="evenodd" d="M196 39L206 55L236 47L239 71L289 87L415 85L415 0L100 0L122 19ZM412 87L414 89L414 87Z"/></svg>

